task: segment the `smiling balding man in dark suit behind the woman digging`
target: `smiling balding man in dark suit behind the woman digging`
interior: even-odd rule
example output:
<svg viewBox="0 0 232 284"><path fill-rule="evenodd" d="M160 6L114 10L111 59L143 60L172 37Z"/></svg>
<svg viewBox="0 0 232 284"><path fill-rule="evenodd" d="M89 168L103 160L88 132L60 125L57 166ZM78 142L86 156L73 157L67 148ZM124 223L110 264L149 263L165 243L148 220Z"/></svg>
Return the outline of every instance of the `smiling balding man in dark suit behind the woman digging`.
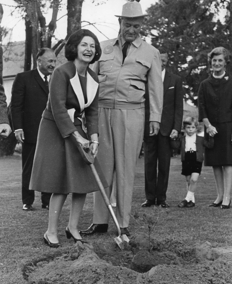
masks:
<svg viewBox="0 0 232 284"><path fill-rule="evenodd" d="M56 66L52 49L41 48L37 68L17 74L12 87L11 118L15 137L22 143L23 210L33 210L34 191L29 190L30 176L42 113L48 101L48 82ZM50 193L41 193L42 208L49 209Z"/></svg>

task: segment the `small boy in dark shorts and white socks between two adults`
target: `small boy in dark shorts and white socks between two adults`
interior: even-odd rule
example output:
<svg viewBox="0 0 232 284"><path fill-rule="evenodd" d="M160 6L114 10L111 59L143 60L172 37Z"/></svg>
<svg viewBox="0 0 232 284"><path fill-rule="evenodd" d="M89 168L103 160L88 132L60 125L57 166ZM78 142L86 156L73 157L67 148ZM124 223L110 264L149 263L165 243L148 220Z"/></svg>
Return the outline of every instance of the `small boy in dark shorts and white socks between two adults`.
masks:
<svg viewBox="0 0 232 284"><path fill-rule="evenodd" d="M194 193L204 160L204 147L213 148L214 140L211 136L209 136L209 141L207 141L204 137L196 135L198 121L194 117L187 117L183 125L186 135L171 141L172 149L180 148L181 174L186 177L187 181L187 195L178 204L178 207L194 207Z"/></svg>

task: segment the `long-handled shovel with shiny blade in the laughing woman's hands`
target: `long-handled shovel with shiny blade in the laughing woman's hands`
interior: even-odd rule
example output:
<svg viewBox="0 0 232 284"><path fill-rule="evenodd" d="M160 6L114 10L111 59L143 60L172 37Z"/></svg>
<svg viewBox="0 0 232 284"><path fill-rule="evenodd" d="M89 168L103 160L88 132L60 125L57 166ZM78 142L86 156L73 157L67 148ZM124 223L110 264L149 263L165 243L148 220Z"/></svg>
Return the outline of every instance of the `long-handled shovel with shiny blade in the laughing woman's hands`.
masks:
<svg viewBox="0 0 232 284"><path fill-rule="evenodd" d="M107 208L110 212L110 215L112 216L112 218L114 220L114 224L116 225L116 228L117 228L117 231L118 231L118 237L114 238L114 240L116 241L116 243L120 247L120 249L123 250L123 242L126 241L127 243L129 243L130 240L128 239L127 235L121 235L121 230L120 230L120 227L119 227L119 224L118 224L118 220L116 219L116 216L114 214L114 211L112 209L110 201L109 201L109 199L108 199L108 197L105 193L105 189L104 189L102 182L101 182L101 180L98 176L97 170L96 170L96 168L93 164L94 163L94 156L91 152L91 149L90 148L83 149L80 143L77 144L77 147L78 147L78 149L81 153L81 156L84 159L85 163L90 166L90 168L93 172L94 178L95 178L97 185L100 189L101 195L102 195L104 202L105 202L105 204L106 204L106 206L107 206Z"/></svg>

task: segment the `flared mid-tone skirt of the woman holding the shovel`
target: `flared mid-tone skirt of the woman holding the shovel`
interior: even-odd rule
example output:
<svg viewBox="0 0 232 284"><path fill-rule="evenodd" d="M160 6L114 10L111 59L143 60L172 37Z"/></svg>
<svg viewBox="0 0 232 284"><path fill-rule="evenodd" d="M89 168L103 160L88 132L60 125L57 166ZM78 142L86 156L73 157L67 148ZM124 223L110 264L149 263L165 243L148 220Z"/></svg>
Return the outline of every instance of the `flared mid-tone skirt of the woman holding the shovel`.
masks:
<svg viewBox="0 0 232 284"><path fill-rule="evenodd" d="M76 128L79 134L87 139L81 125ZM97 158L94 165L104 188L108 187ZM42 118L40 122L29 188L58 194L90 193L99 190L73 135L63 138L56 122L46 118Z"/></svg>

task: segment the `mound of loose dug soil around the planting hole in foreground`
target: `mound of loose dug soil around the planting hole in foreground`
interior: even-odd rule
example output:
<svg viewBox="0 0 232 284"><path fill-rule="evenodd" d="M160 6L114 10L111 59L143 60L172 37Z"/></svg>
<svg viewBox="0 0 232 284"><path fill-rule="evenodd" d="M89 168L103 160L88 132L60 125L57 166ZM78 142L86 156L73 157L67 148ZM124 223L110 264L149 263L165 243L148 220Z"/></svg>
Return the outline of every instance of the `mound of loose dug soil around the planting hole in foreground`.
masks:
<svg viewBox="0 0 232 284"><path fill-rule="evenodd" d="M149 243L136 237L124 250L116 244L81 244L54 259L26 265L29 284L231 284L232 248L175 240ZM136 270L136 271L135 271Z"/></svg>

